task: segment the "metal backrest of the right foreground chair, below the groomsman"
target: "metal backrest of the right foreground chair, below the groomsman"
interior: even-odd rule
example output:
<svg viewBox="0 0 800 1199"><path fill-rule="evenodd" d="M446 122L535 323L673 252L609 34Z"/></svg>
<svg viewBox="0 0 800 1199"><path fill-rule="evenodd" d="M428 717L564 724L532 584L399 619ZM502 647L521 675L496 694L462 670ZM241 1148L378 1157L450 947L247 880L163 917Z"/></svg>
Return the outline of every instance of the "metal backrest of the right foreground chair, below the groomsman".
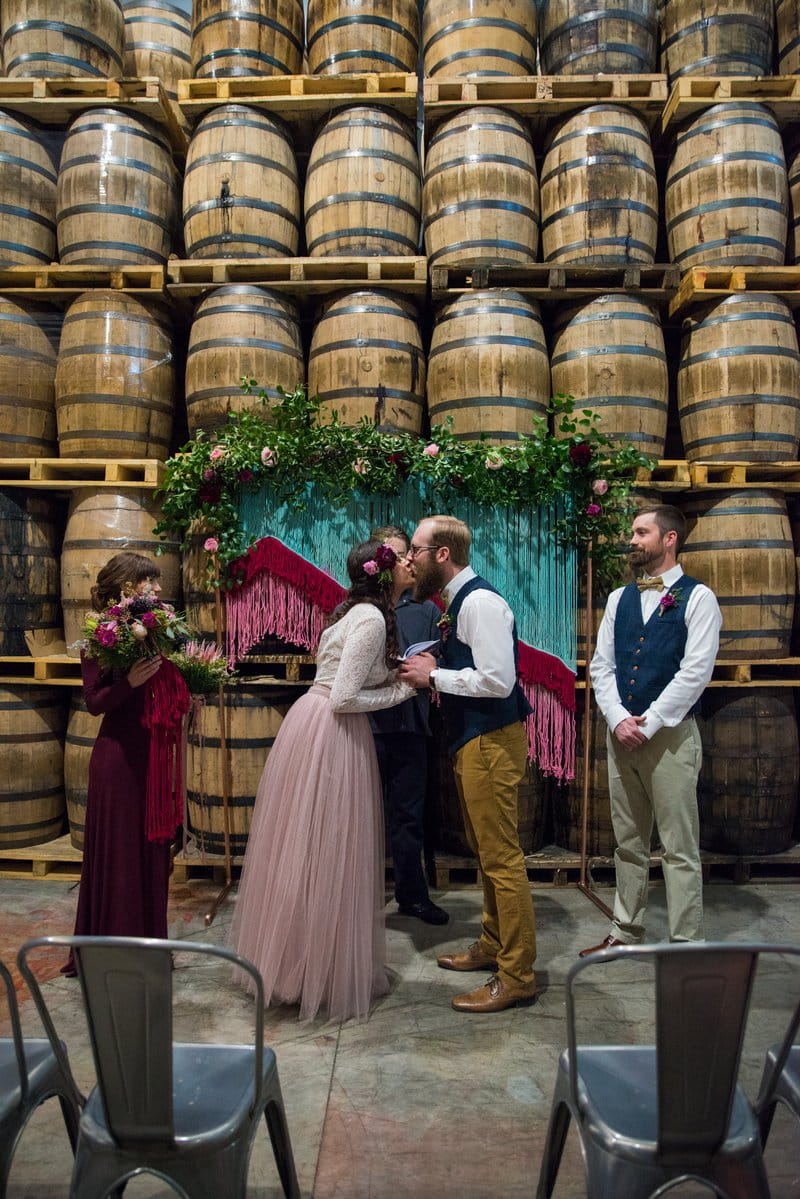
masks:
<svg viewBox="0 0 800 1199"><path fill-rule="evenodd" d="M765 953L800 957L800 948L735 942L622 946L577 962L567 977L573 1096L577 1097L575 978L584 969L614 959L650 959L655 966L660 1158L664 1164L670 1159L687 1164L708 1159L728 1131L753 980L758 960ZM792 1022L787 1035L790 1044Z"/></svg>

